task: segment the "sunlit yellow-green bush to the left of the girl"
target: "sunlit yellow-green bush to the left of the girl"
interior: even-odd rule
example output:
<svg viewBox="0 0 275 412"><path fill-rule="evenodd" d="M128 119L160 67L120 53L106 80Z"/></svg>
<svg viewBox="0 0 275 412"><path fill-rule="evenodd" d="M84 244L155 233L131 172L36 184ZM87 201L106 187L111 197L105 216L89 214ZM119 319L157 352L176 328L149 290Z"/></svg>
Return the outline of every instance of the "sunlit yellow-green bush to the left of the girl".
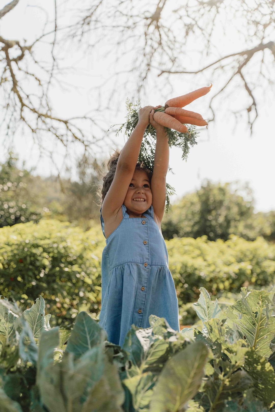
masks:
<svg viewBox="0 0 275 412"><path fill-rule="evenodd" d="M95 314L101 302L101 228L83 232L68 222L42 219L0 229L0 290L32 304L42 295L53 323L68 321L77 307Z"/></svg>

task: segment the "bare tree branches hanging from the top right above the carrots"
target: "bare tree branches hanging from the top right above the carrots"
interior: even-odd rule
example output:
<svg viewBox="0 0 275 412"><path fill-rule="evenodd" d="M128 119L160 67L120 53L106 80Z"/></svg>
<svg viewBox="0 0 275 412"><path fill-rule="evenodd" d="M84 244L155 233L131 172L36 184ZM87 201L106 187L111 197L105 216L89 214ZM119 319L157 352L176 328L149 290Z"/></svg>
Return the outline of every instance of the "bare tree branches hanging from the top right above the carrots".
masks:
<svg viewBox="0 0 275 412"><path fill-rule="evenodd" d="M67 0L67 3L70 1ZM103 110L113 105L118 94L122 98L121 89L119 92L116 90L122 74L125 79L122 89L128 97L135 99L146 96L148 84L164 89L159 80L155 80L164 74L166 77L162 85L165 84L170 91L173 90L171 76L174 74L196 75L196 79L198 74L202 74L211 78L212 83L215 83L216 78L224 78L223 85L215 95L218 96L217 99L224 89L230 87L233 79L240 77L241 87L243 85L248 98L252 99L252 103L243 108L250 116L248 124L252 133L252 125L259 110L253 93L254 85L251 84L247 70L254 72L254 62L258 61L262 54L259 76L264 77L262 69L265 66L270 67L270 56L272 61L275 60L273 0L187 0L184 5L179 6L172 0L156 0L146 3L146 6L143 2L132 0L116 0L112 5L104 0L82 0L82 5L81 8L79 4L77 6L78 13L75 14L79 17L69 29L68 39L79 45L87 44L89 50L95 46L99 48L99 43L103 44L106 52L102 59L115 49L115 68L120 66L122 59L129 62L126 70L114 70L110 73L107 82L113 84L113 89L107 101L104 95L106 105ZM244 47L238 52L224 52L220 47L223 43L219 37L221 32L225 39L234 33ZM196 46L200 46L197 51ZM200 62L212 61L188 70L188 61L195 51L201 54ZM263 54L264 51L268 53ZM217 55L220 56L216 58ZM273 74L271 70L270 77L266 78L265 86L262 87L274 82L274 73L275 70L273 69ZM132 89L128 87L129 84ZM102 88L103 84L100 84L92 91L99 92ZM214 119L211 103L209 108Z"/></svg>

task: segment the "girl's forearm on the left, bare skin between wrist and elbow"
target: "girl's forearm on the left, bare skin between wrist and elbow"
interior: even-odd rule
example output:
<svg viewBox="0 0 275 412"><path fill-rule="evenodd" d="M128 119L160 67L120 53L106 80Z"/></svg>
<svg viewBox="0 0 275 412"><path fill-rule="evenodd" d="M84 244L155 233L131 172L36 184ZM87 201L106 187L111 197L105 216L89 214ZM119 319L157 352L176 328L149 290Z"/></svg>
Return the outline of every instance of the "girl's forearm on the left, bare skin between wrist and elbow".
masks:
<svg viewBox="0 0 275 412"><path fill-rule="evenodd" d="M138 123L125 143L118 158L118 166L132 170L136 167L146 125Z"/></svg>

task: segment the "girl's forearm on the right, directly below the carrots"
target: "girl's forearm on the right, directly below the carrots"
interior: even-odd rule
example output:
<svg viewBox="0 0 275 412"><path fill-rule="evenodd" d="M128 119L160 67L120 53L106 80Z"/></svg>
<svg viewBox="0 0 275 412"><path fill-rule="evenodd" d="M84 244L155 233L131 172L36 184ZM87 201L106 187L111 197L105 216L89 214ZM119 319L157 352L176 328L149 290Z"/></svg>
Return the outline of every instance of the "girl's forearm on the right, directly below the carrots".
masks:
<svg viewBox="0 0 275 412"><path fill-rule="evenodd" d="M153 174L159 177L167 175L169 166L169 145L165 129L157 130Z"/></svg>

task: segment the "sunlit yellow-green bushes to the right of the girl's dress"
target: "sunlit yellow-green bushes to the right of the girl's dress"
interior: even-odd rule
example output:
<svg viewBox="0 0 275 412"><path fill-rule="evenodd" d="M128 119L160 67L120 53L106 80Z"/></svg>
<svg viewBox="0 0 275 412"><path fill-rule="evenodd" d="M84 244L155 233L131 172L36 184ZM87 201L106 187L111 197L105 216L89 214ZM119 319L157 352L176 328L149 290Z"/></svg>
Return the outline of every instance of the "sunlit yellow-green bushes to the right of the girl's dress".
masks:
<svg viewBox="0 0 275 412"><path fill-rule="evenodd" d="M219 298L242 286L259 289L275 283L275 245L261 237L252 242L233 235L215 242L207 236L174 238L166 244L180 319L186 315L186 304L197 300L200 287ZM183 323L190 321L192 317Z"/></svg>

